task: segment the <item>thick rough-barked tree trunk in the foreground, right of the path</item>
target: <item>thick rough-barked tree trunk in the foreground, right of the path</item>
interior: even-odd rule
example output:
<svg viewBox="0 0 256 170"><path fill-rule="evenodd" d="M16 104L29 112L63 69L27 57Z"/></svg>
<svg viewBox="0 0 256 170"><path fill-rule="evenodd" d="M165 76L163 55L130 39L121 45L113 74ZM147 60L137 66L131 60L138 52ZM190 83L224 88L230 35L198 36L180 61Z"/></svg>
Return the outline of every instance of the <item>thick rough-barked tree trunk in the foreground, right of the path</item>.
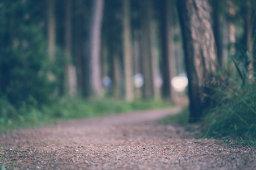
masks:
<svg viewBox="0 0 256 170"><path fill-rule="evenodd" d="M207 0L177 1L188 75L190 122L203 114L205 84L216 71L216 51Z"/></svg>

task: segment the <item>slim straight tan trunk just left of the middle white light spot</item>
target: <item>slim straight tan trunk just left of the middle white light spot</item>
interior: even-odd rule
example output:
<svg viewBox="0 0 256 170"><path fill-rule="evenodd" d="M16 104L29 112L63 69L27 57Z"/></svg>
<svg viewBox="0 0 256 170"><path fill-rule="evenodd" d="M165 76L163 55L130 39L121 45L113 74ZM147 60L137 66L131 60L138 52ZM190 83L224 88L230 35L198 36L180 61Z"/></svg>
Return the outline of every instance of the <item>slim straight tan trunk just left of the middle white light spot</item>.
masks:
<svg viewBox="0 0 256 170"><path fill-rule="evenodd" d="M123 2L123 51L125 65L125 98L127 101L134 99L133 88L133 55L131 48L131 17L130 17L130 0Z"/></svg>

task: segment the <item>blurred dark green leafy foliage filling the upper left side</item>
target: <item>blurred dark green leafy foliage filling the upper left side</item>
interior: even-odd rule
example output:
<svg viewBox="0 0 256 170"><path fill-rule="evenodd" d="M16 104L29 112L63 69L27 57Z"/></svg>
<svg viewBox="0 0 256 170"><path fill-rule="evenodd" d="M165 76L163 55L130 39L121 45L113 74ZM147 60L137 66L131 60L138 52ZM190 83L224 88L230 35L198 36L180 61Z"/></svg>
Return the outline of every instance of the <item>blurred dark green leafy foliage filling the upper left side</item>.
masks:
<svg viewBox="0 0 256 170"><path fill-rule="evenodd" d="M49 102L53 91L46 71L46 40L39 28L41 2L35 3L0 2L0 97L15 107Z"/></svg>

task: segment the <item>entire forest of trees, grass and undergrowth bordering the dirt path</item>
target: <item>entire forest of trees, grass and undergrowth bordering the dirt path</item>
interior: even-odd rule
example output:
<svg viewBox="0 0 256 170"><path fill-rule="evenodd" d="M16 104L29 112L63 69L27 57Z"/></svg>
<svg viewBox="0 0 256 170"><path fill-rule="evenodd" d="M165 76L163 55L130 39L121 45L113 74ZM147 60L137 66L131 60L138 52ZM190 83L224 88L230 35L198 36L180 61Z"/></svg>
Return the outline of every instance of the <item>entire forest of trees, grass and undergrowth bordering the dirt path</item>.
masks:
<svg viewBox="0 0 256 170"><path fill-rule="evenodd" d="M0 133L188 97L204 137L255 140L254 0L1 0L0 22Z"/></svg>

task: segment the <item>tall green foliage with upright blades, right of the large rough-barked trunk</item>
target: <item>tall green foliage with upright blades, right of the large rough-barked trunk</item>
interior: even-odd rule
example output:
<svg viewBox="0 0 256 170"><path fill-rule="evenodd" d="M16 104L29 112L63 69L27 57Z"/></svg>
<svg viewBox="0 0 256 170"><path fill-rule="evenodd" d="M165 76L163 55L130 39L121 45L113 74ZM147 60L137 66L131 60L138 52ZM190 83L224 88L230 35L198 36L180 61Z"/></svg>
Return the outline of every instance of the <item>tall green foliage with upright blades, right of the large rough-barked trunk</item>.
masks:
<svg viewBox="0 0 256 170"><path fill-rule="evenodd" d="M238 46L240 47L240 46ZM238 48L233 56L233 78L213 89L217 107L205 117L207 130L204 137L234 137L247 141L256 139L256 80L250 78L249 52ZM227 85L228 84L228 85Z"/></svg>

